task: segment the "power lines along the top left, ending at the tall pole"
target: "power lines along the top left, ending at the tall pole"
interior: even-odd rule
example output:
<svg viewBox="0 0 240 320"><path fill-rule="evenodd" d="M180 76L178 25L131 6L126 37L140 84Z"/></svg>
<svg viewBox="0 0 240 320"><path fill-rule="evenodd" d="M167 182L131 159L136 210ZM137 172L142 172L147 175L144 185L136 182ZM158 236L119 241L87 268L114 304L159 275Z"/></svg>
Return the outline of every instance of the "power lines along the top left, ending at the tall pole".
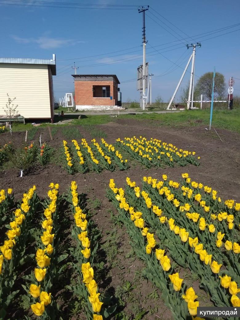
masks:
<svg viewBox="0 0 240 320"><path fill-rule="evenodd" d="M39 5L36 5L34 3L29 3L28 0L7 0L7 1L12 1L12 2L26 2L25 4L19 4L19 3L6 3L6 2L1 2L0 4L6 4L6 5L18 5L18 6L30 6L30 7L46 7L46 8L65 8L65 9L103 9L103 10L136 10L136 5L134 5L134 8L127 8L127 7L121 7L121 5L119 5L118 7L110 7L110 8L107 8L107 7L97 7L95 5L95 7L93 6L93 4L91 6L89 6L89 4L82 4L82 5L87 5L89 7L70 7L70 6L57 6L57 5L45 5L45 4L48 4L50 2L45 2L44 4L42 4L43 2L39 3L39 2L34 2L36 4L39 4ZM61 4L61 3L56 3L56 4ZM75 4L77 5L77 4ZM109 6L108 4L106 6ZM124 6L124 5L123 5Z"/></svg>

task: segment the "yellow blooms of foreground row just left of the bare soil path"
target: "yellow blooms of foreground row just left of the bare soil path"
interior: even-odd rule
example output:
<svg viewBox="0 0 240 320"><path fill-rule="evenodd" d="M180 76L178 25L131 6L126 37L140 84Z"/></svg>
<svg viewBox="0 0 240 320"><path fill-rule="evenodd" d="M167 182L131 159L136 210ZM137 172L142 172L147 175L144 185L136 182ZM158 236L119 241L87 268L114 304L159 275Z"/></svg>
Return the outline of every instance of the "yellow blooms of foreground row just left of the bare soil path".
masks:
<svg viewBox="0 0 240 320"><path fill-rule="evenodd" d="M91 241L88 237L86 214L83 213L82 209L79 207L78 203L78 193L76 181L71 182L71 195L72 195L72 205L74 207L74 220L76 227L80 228L81 232L78 234L78 239L81 242L82 250L81 253L83 257L88 260L91 255ZM89 301L92 305L92 316L94 320L102 320L102 316L99 315L101 311L102 302L99 299L100 293L98 292L98 285L93 279L93 268L90 262L82 263L81 271L83 274L83 283L89 293Z"/></svg>

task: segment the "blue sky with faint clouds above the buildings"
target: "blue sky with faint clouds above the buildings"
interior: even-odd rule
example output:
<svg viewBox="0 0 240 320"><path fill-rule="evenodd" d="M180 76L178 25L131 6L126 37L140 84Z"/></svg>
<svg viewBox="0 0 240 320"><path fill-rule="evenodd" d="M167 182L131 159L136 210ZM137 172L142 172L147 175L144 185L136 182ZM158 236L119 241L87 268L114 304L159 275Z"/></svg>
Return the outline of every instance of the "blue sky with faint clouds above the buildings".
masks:
<svg viewBox="0 0 240 320"><path fill-rule="evenodd" d="M83 2L45 0L45 2L56 1L87 3L86 0ZM31 6L15 6L10 3ZM240 29L240 25L210 36L195 36L240 23L239 0L232 0L231 3L223 0L165 2L153 0L145 2L99 0L96 2L92 0L90 3L150 6L146 12L146 39L148 40L149 71L155 75L152 80L153 100L157 95L161 95L165 101L170 99L182 74L182 68L185 67L191 54L191 49L187 50L185 44L191 44L194 40L202 43L202 47L196 51L195 81L198 79L197 76L212 71L214 66L217 72L224 74L227 81L230 76L240 78L240 30L204 41L207 38ZM142 14L138 13L137 7L132 10L107 10L47 8L32 4L34 1L30 0L28 2L0 0L1 57L52 59L52 53L55 53L57 76L54 76L54 97L56 99L63 96L65 92L73 91L71 74L74 70L71 66L75 61L76 66L79 67L77 70L79 74L116 74L120 82L131 80L131 82L120 84L122 99L123 101L139 100L136 81L132 81L137 76L137 67L142 63ZM181 31L164 20L157 12ZM186 34L195 37L193 40L188 38L188 40L179 41L188 37ZM116 52L119 50L124 51ZM124 60L116 61L121 59ZM162 74L164 76L159 76ZM190 73L187 72L182 87L186 86L189 77ZM236 80L234 89L240 89L240 80ZM235 93L238 92L240 93L235 91Z"/></svg>

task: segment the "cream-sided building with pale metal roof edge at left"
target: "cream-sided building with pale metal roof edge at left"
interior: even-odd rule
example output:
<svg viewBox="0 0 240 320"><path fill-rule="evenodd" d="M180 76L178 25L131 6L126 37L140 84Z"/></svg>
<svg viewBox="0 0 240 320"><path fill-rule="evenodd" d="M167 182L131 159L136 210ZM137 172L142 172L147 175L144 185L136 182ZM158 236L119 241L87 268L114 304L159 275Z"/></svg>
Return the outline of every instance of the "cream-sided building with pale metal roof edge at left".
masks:
<svg viewBox="0 0 240 320"><path fill-rule="evenodd" d="M27 119L54 119L52 76L56 59L0 58L0 116L5 116L7 93Z"/></svg>

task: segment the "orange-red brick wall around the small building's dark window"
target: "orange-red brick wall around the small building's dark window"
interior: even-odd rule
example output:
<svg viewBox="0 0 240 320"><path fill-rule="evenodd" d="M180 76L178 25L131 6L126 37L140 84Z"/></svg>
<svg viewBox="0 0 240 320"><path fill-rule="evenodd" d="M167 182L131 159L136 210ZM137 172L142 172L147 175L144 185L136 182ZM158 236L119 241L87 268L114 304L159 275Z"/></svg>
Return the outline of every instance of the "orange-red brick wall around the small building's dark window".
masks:
<svg viewBox="0 0 240 320"><path fill-rule="evenodd" d="M76 106L115 106L117 104L116 88L113 81L75 81L75 103ZM110 85L110 98L94 98L92 94L93 85Z"/></svg>

